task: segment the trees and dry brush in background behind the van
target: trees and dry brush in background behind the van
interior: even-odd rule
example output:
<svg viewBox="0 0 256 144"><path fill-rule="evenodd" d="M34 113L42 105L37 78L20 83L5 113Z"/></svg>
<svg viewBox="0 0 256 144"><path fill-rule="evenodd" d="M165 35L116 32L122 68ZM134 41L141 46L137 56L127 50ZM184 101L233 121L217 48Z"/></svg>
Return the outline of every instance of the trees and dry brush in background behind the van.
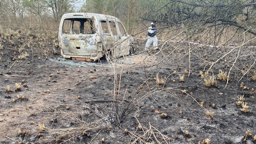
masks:
<svg viewBox="0 0 256 144"><path fill-rule="evenodd" d="M127 29L158 20L164 28L185 28L190 38L205 30L214 30L215 38L228 29L256 35L254 0L0 0L0 25L32 16L58 22L66 12L113 15Z"/></svg>

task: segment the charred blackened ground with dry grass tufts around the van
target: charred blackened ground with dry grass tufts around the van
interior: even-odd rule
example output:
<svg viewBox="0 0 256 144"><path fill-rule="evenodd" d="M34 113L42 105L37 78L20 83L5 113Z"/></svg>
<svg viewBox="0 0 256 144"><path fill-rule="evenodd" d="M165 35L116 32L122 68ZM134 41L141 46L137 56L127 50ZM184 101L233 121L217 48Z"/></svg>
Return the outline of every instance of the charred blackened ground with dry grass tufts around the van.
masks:
<svg viewBox="0 0 256 144"><path fill-rule="evenodd" d="M137 41L126 62L119 58L111 64L63 59L59 50L45 58L37 47L27 46L22 52L29 56L18 59L13 57L22 52L15 43L3 44L0 143L256 143L256 82L249 74L253 48L241 50L227 86L217 80L218 86L206 87L198 74L210 68L205 61L216 61L230 49L192 47L189 54L189 45L173 43L177 47L165 44L161 51L147 52ZM237 53L216 62L210 75L229 72ZM156 83L156 74L164 84ZM239 95L248 103L247 113L236 105ZM246 136L247 130L252 135Z"/></svg>

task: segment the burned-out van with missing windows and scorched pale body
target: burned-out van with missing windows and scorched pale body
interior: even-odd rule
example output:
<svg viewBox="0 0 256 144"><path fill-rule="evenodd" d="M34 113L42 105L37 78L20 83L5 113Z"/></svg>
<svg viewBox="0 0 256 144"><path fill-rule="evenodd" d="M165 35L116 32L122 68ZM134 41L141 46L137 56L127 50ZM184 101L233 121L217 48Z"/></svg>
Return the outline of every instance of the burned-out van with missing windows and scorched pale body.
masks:
<svg viewBox="0 0 256 144"><path fill-rule="evenodd" d="M133 37L122 22L96 13L66 13L59 25L59 46L64 58L95 61L133 53Z"/></svg>

